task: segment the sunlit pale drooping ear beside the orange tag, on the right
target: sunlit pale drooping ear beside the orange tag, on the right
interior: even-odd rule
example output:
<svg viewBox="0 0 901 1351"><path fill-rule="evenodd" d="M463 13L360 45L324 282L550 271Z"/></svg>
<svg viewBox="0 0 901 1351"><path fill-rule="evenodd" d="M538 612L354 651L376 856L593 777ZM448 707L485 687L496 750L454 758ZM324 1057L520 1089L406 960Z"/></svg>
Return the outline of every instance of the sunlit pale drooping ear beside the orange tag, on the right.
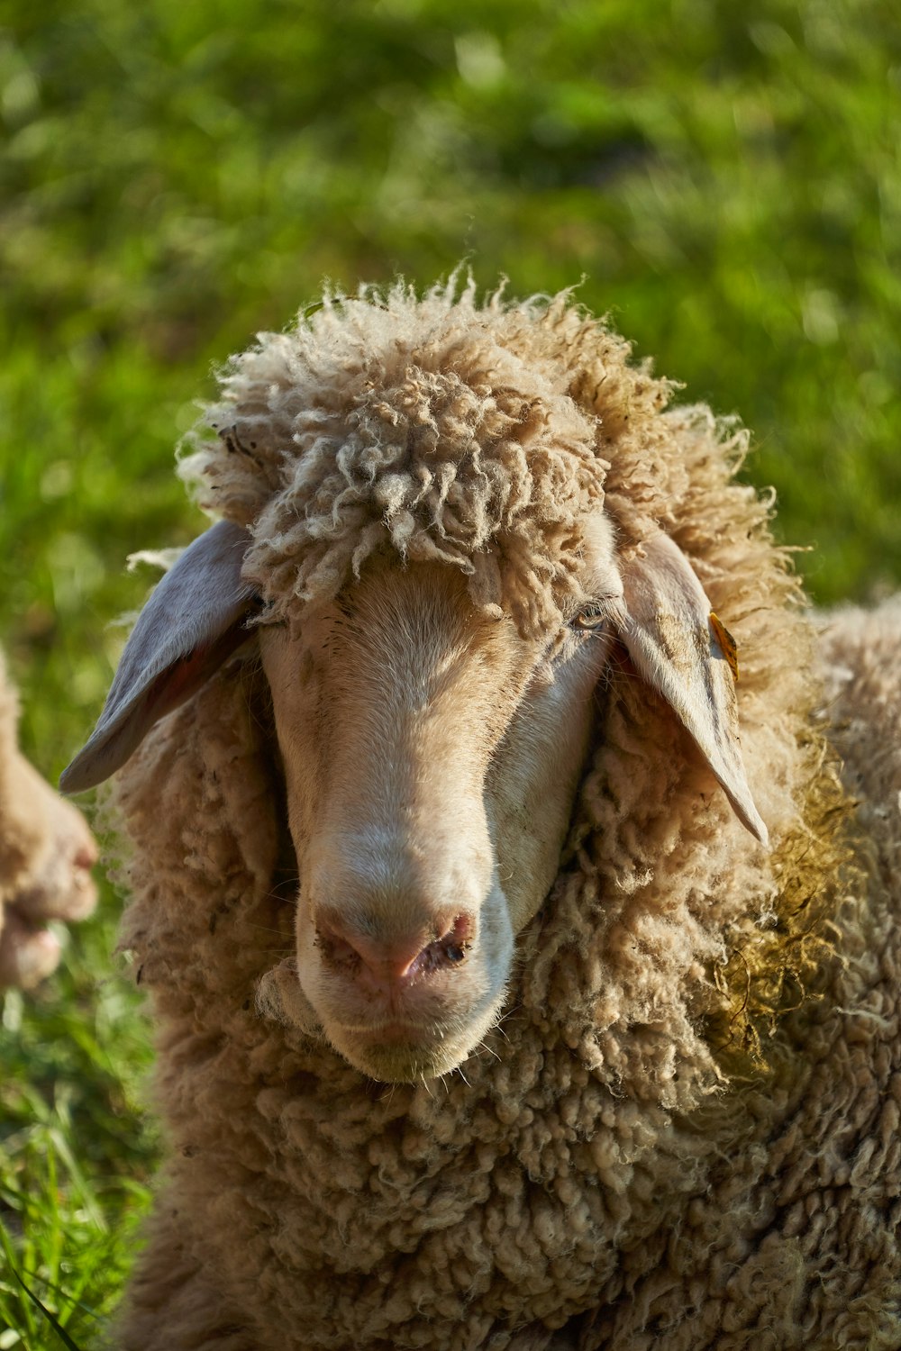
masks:
<svg viewBox="0 0 901 1351"><path fill-rule="evenodd" d="M742 824L766 844L742 761L732 640L678 546L661 531L643 550L621 567L620 638L639 676L690 732Z"/></svg>

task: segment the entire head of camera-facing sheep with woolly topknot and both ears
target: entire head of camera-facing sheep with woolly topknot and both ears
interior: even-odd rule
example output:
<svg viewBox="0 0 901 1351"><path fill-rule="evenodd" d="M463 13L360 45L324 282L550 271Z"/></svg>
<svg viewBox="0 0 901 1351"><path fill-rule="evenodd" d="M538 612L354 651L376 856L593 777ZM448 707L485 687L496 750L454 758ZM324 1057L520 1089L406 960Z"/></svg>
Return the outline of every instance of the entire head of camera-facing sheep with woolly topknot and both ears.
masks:
<svg viewBox="0 0 901 1351"><path fill-rule="evenodd" d="M181 466L224 519L154 592L63 777L111 774L257 647L300 874L273 988L385 1079L450 1070L497 1019L605 671L670 705L766 839L728 638L661 527L689 493L669 386L566 296L455 288L327 299L231 361Z"/></svg>

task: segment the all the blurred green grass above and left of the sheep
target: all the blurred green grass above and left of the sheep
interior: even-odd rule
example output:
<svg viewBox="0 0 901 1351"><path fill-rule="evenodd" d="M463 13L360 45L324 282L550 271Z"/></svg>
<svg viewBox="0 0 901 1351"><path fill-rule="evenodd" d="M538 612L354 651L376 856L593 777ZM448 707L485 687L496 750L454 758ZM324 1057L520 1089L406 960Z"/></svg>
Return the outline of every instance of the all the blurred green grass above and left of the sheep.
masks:
<svg viewBox="0 0 901 1351"><path fill-rule="evenodd" d="M0 635L49 777L146 593L126 554L203 526L172 476L192 400L324 276L585 278L754 430L817 601L901 582L890 0L7 0L0 119ZM116 908L0 1028L0 1240L78 1344L155 1152ZM19 1344L63 1343L0 1255Z"/></svg>

